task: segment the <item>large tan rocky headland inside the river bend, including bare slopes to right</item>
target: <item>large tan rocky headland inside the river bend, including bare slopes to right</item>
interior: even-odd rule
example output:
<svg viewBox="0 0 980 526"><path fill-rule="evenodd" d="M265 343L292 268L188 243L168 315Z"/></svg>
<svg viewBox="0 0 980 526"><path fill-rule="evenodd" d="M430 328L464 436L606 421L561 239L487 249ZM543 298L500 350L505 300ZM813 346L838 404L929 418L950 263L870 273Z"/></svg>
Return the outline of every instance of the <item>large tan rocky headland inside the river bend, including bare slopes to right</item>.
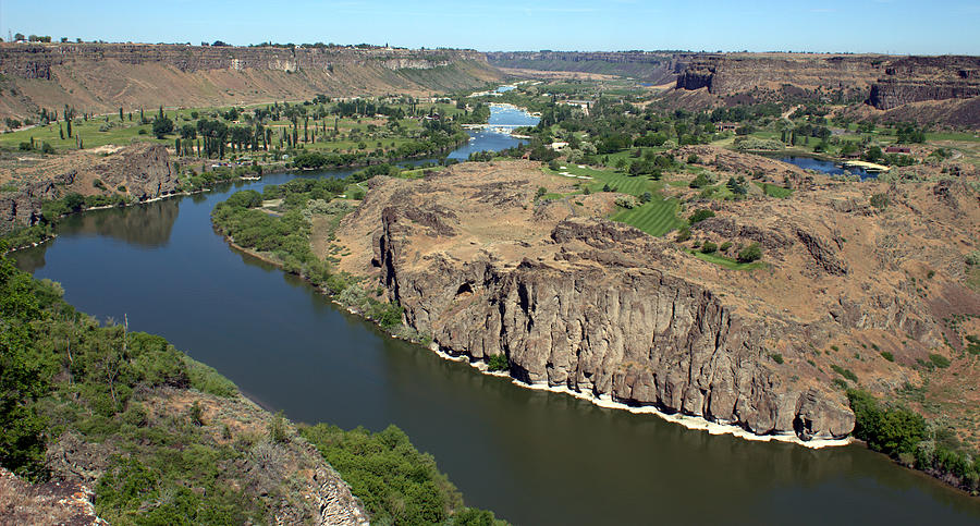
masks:
<svg viewBox="0 0 980 526"><path fill-rule="evenodd" d="M536 199L536 188L574 192L574 183L519 162L467 163L419 181L376 178L341 223L338 243L351 250L341 267L375 276L442 352L474 362L502 354L522 382L756 435L842 438L854 415L834 367L879 392L915 381L916 359L945 338L940 319L980 310L980 296L952 278L963 264L944 253L951 227L930 222L928 241L909 242L921 235L919 219L909 234L860 192L794 172L797 192L809 194L803 201L721 207L696 232L759 242L763 270L724 269L601 219L615 194ZM903 189L891 192L901 199ZM965 186L920 192L942 218L980 224ZM941 269L929 297L899 283L927 273L923 259ZM848 348L867 342L896 363L852 357ZM831 350L838 345L845 351Z"/></svg>

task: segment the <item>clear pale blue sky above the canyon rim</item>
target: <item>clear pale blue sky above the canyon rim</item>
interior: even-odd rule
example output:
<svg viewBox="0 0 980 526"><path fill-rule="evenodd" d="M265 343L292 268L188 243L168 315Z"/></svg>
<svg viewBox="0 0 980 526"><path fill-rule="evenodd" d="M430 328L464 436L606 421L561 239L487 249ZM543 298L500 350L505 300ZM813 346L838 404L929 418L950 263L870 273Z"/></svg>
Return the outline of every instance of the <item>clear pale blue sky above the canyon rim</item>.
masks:
<svg viewBox="0 0 980 526"><path fill-rule="evenodd" d="M980 0L0 0L4 39L980 54L978 28Z"/></svg>

